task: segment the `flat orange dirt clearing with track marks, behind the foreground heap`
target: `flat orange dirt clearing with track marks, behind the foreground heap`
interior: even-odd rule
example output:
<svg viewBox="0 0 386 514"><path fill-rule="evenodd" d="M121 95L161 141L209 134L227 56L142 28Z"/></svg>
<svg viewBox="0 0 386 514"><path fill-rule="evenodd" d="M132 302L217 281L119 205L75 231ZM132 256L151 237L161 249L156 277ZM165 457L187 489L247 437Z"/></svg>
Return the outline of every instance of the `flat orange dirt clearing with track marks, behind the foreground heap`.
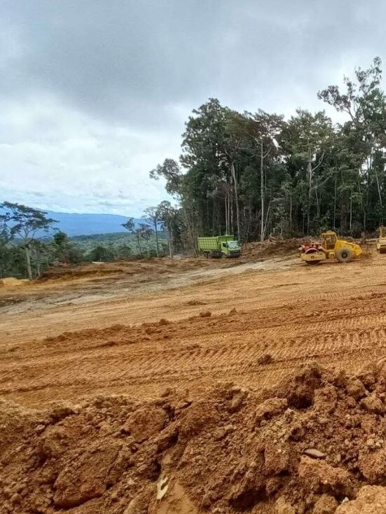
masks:
<svg viewBox="0 0 386 514"><path fill-rule="evenodd" d="M42 405L178 386L195 396L218 380L268 387L311 360L354 371L385 354L384 275L374 255L188 270L132 293L109 277L83 284L78 302L66 297L79 293L71 282L56 302L42 286L1 309L0 395ZM259 363L264 354L272 362Z"/></svg>

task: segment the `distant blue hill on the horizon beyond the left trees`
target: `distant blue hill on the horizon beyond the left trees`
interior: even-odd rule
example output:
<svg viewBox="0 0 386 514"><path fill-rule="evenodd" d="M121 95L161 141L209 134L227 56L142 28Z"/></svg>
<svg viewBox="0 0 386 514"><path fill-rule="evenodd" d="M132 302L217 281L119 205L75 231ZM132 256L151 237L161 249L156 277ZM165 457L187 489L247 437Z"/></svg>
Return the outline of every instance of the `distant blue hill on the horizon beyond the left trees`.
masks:
<svg viewBox="0 0 386 514"><path fill-rule="evenodd" d="M68 212L46 211L50 218L59 223L54 226L69 236L109 234L111 232L125 232L121 226L130 216L118 214L70 214ZM144 220L135 218L135 223L144 223Z"/></svg>

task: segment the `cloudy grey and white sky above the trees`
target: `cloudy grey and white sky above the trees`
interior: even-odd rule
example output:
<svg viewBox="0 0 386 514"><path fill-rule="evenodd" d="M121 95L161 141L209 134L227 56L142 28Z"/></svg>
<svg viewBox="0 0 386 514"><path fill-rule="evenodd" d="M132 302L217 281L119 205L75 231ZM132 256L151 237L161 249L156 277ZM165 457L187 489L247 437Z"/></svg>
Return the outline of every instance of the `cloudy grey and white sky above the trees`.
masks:
<svg viewBox="0 0 386 514"><path fill-rule="evenodd" d="M141 216L193 109L326 109L318 90L386 61L385 18L380 0L1 0L0 201Z"/></svg>

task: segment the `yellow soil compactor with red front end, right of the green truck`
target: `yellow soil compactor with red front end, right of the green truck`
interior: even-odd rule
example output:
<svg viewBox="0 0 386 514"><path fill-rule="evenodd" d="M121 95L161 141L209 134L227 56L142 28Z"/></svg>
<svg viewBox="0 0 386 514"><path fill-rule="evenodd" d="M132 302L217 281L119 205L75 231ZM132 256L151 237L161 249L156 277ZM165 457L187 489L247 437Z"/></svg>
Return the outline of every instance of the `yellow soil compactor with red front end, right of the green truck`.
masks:
<svg viewBox="0 0 386 514"><path fill-rule="evenodd" d="M307 264L319 264L322 261L350 263L353 257L359 257L362 253L359 244L338 239L332 230L323 232L320 242L303 244L299 250L302 261Z"/></svg>

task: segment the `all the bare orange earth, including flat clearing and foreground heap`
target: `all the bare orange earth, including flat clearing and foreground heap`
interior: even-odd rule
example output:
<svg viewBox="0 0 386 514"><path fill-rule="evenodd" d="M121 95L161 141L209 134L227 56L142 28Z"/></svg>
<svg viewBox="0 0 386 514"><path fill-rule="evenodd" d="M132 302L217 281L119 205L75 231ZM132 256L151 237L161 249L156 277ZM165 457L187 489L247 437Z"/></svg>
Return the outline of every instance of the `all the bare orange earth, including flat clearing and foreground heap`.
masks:
<svg viewBox="0 0 386 514"><path fill-rule="evenodd" d="M386 514L386 256L0 282L0 514Z"/></svg>

